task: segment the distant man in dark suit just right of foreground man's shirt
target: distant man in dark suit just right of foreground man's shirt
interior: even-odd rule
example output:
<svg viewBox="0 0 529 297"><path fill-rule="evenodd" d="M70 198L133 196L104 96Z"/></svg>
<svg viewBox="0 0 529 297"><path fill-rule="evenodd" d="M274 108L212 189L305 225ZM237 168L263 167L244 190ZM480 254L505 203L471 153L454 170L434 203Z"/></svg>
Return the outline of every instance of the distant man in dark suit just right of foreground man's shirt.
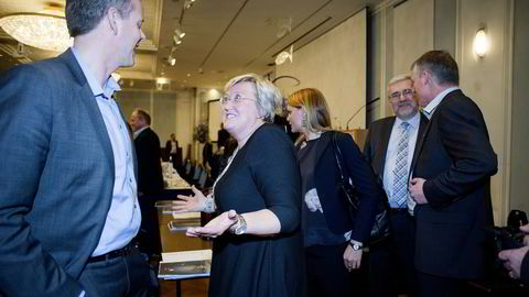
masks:
<svg viewBox="0 0 529 297"><path fill-rule="evenodd" d="M138 160L138 199L141 208L140 250L151 256L161 254L155 196L163 190L160 139L151 129L151 117L137 108L130 116Z"/></svg>

